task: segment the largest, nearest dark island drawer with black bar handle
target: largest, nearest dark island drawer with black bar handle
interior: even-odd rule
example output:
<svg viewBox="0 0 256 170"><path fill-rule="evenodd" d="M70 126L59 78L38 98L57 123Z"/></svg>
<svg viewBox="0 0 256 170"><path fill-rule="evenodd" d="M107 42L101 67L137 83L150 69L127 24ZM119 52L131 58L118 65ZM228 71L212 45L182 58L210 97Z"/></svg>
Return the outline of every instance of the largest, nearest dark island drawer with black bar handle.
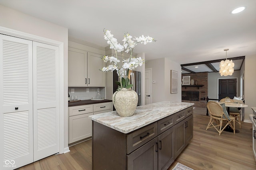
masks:
<svg viewBox="0 0 256 170"><path fill-rule="evenodd" d="M126 136L127 154L157 136L157 122L138 129Z"/></svg>

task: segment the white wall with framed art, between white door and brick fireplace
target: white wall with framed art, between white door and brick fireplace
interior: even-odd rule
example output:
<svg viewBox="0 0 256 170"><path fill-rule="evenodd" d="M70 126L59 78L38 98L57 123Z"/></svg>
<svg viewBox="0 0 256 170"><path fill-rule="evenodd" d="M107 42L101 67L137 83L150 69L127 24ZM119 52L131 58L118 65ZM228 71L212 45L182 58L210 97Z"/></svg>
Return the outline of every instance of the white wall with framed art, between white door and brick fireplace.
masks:
<svg viewBox="0 0 256 170"><path fill-rule="evenodd" d="M181 67L179 63L168 58L149 60L145 68L152 68L152 103L162 101L181 102ZM170 72L178 71L178 93L170 93Z"/></svg>

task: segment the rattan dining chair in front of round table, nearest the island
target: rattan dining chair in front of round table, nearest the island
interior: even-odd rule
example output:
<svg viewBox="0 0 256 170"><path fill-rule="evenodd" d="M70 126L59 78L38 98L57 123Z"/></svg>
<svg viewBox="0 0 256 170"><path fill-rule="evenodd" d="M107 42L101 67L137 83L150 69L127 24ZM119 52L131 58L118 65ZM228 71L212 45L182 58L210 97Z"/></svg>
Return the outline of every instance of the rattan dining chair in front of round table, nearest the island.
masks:
<svg viewBox="0 0 256 170"><path fill-rule="evenodd" d="M206 130L214 127L220 135L220 133L222 133L222 131L227 126L230 126L233 129L234 134L236 133L235 118L231 115L228 116L228 112L226 111L224 104L218 104L217 102L208 102L207 108L210 113L210 121L208 123L208 126L206 127ZM233 121L233 125L232 125L232 121ZM224 125L223 128L222 128L222 123L223 124L226 123L226 125Z"/></svg>

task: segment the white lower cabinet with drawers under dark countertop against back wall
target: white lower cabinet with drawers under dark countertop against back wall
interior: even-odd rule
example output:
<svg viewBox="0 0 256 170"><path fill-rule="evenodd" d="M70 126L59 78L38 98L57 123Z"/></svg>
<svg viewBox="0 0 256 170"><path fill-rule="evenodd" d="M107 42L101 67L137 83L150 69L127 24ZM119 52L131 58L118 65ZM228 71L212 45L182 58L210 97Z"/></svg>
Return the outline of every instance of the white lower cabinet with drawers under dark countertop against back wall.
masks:
<svg viewBox="0 0 256 170"><path fill-rule="evenodd" d="M112 110L112 102L68 107L68 143L74 143L92 136L92 121L88 116Z"/></svg>

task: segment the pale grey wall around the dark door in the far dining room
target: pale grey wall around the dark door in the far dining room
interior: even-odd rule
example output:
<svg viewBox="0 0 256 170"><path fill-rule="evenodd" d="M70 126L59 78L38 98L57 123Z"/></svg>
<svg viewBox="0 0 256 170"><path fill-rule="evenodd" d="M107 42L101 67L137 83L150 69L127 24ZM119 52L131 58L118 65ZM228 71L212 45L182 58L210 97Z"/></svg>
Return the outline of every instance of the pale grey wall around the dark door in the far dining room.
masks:
<svg viewBox="0 0 256 170"><path fill-rule="evenodd" d="M219 72L208 72L208 97L210 99L218 99L218 78L237 78L236 96L240 96L240 70L234 71L232 76L220 76Z"/></svg>

